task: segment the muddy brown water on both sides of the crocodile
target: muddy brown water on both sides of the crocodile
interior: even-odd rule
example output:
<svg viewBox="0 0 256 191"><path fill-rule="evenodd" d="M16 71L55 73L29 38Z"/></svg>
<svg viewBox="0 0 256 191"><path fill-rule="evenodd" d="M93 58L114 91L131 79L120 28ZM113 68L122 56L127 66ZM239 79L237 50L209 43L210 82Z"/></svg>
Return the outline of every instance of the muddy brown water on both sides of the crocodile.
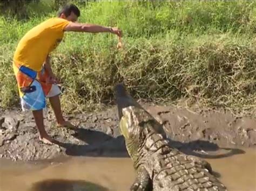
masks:
<svg viewBox="0 0 256 191"><path fill-rule="evenodd" d="M256 150L207 159L228 190L256 190ZM130 158L72 157L52 164L0 160L1 191L129 190L134 180Z"/></svg>

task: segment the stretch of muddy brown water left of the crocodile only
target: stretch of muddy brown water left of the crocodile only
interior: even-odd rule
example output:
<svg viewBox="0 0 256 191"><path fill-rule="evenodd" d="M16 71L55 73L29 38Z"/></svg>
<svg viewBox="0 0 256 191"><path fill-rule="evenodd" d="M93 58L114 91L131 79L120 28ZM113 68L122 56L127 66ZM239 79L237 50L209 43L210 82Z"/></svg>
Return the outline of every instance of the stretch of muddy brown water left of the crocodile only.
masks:
<svg viewBox="0 0 256 191"><path fill-rule="evenodd" d="M0 164L1 191L128 190L134 178L130 158L72 157L52 165L2 160Z"/></svg>

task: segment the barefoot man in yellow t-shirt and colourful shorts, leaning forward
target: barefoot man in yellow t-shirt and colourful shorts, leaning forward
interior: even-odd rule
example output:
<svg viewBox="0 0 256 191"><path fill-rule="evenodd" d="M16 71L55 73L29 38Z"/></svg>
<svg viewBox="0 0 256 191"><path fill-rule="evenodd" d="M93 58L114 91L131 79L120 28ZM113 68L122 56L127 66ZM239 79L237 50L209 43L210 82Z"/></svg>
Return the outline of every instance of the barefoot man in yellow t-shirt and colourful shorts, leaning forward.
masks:
<svg viewBox="0 0 256 191"><path fill-rule="evenodd" d="M55 49L63 38L64 32L110 32L122 36L115 27L105 27L95 24L80 24L77 19L80 11L76 5L65 5L58 17L50 18L33 27L19 41L14 54L14 72L21 98L22 110L31 110L39 131L39 139L46 144L56 141L46 133L43 122L43 109L46 97L49 98L55 113L57 126L73 125L65 121L60 107L59 83L53 74L49 53Z"/></svg>

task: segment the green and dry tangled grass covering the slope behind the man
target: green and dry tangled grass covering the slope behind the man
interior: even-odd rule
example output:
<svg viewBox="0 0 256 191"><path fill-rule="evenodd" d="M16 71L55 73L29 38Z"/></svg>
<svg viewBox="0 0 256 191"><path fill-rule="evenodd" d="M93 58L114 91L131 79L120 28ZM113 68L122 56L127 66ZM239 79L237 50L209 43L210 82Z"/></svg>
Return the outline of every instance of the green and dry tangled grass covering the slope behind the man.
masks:
<svg viewBox="0 0 256 191"><path fill-rule="evenodd" d="M55 16L50 4L29 8L28 20L0 19L3 108L19 104L11 67L18 40ZM205 107L255 108L256 3L99 2L79 8L80 22L120 27L124 48L116 48L112 34L65 34L52 53L53 70L64 81L65 110L111 103L121 81L132 96L149 101L185 98Z"/></svg>

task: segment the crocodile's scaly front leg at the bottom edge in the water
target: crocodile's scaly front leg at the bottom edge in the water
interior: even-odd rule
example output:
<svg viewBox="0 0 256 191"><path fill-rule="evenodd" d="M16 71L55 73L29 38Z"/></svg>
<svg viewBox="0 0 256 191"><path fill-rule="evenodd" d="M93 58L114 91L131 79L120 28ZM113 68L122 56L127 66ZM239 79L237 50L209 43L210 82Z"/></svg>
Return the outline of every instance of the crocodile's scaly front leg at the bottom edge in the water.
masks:
<svg viewBox="0 0 256 191"><path fill-rule="evenodd" d="M131 186L131 191L150 191L152 189L152 182L149 173L143 166L137 169L137 176L133 185Z"/></svg>

